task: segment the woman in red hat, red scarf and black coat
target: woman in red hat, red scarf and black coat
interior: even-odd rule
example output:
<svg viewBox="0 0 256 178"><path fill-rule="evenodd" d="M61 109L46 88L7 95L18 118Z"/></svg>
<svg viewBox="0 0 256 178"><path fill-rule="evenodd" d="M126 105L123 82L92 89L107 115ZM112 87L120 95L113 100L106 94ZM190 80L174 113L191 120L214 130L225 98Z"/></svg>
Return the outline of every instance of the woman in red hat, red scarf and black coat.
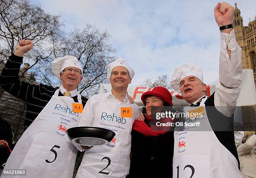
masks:
<svg viewBox="0 0 256 178"><path fill-rule="evenodd" d="M172 95L166 88L157 86L143 93L141 100L145 105L144 121L136 120L133 124L129 177L172 178L174 128L172 131L153 131L155 129L151 127L151 107L172 106Z"/></svg>

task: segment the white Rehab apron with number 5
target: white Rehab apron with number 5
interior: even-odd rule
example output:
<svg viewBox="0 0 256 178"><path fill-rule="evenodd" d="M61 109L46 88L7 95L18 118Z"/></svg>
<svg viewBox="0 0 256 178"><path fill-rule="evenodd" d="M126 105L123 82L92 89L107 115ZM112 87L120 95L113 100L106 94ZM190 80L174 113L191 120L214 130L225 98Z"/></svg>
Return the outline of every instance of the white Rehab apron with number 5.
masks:
<svg viewBox="0 0 256 178"><path fill-rule="evenodd" d="M20 137L5 169L26 169L26 178L72 178L77 149L65 131L78 125L81 113L73 112L71 97L58 94L59 89ZM79 93L77 99L82 103Z"/></svg>

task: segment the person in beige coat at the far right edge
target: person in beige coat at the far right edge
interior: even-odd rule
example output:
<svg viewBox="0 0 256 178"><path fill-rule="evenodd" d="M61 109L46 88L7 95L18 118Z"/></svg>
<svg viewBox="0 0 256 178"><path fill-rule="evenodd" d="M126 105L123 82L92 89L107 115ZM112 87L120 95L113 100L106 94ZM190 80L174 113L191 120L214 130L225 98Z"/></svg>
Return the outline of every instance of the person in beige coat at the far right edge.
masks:
<svg viewBox="0 0 256 178"><path fill-rule="evenodd" d="M237 153L243 178L256 178L256 135L245 135Z"/></svg>

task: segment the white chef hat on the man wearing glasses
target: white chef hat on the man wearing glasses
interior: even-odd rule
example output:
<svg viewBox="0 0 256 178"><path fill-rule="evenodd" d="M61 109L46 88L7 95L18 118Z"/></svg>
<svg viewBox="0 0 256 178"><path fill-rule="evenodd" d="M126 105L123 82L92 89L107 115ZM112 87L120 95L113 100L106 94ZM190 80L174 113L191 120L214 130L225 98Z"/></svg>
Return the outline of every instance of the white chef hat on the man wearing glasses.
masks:
<svg viewBox="0 0 256 178"><path fill-rule="evenodd" d="M76 67L83 71L83 68L77 58L74 56L65 56L63 58L56 58L51 63L51 71L52 73L60 78L60 73L63 71L66 67Z"/></svg>

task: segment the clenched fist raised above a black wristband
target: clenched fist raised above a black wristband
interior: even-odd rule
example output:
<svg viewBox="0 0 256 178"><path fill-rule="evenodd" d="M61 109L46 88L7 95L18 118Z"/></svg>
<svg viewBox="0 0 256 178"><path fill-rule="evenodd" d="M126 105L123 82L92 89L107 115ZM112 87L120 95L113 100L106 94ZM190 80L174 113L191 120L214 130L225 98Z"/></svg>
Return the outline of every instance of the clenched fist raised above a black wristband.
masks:
<svg viewBox="0 0 256 178"><path fill-rule="evenodd" d="M218 3L214 8L214 16L219 27L232 23L234 16L234 7L228 3Z"/></svg>

